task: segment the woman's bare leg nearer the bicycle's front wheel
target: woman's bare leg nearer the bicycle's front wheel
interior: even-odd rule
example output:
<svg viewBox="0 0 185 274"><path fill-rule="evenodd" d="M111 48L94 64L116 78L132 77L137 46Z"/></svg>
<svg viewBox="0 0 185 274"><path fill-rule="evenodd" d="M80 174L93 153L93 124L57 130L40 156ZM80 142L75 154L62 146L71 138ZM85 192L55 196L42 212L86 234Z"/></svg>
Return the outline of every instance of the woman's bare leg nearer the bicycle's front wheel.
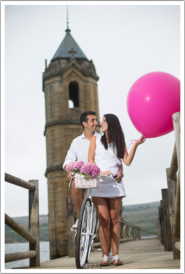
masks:
<svg viewBox="0 0 185 274"><path fill-rule="evenodd" d="M110 244L110 214L107 206L107 199L93 197L92 201L99 217L99 237L102 254L108 256Z"/></svg>

